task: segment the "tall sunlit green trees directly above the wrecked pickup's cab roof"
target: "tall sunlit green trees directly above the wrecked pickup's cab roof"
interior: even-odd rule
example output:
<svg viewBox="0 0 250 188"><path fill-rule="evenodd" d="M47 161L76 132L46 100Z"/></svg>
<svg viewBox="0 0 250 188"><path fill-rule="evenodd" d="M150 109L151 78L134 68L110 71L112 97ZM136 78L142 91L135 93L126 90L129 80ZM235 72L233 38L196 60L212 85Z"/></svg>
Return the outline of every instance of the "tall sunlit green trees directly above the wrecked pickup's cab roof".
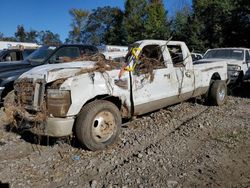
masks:
<svg viewBox="0 0 250 188"><path fill-rule="evenodd" d="M170 37L170 24L162 0L127 0L123 27L128 44Z"/></svg>

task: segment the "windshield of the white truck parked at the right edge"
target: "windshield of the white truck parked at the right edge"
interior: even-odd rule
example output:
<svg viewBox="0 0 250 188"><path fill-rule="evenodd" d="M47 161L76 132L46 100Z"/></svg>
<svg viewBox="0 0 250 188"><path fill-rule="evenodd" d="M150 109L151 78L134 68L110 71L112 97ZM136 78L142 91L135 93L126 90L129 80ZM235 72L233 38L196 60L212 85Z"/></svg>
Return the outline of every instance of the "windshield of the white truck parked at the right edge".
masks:
<svg viewBox="0 0 250 188"><path fill-rule="evenodd" d="M244 51L239 49L214 49L209 50L203 59L236 59L244 60Z"/></svg>

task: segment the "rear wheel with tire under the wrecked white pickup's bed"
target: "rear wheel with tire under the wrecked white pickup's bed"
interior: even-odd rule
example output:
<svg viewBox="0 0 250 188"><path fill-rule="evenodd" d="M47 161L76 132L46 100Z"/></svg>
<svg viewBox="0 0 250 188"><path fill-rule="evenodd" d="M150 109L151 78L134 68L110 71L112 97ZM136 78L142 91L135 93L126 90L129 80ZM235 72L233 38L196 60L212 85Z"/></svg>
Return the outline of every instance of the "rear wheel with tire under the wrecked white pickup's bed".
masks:
<svg viewBox="0 0 250 188"><path fill-rule="evenodd" d="M215 80L210 86L209 104L214 106L221 106L227 99L227 86L224 81Z"/></svg>

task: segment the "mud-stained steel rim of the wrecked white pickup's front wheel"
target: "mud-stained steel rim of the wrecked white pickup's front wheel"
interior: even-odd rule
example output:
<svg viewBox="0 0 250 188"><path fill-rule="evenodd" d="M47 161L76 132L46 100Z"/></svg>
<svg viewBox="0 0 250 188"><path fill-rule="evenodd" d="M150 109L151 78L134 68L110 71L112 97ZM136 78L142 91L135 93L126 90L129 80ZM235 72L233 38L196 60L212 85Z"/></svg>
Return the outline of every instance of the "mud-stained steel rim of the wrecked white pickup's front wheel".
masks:
<svg viewBox="0 0 250 188"><path fill-rule="evenodd" d="M92 123L92 135L96 142L108 141L116 131L114 115L109 111L98 113Z"/></svg>

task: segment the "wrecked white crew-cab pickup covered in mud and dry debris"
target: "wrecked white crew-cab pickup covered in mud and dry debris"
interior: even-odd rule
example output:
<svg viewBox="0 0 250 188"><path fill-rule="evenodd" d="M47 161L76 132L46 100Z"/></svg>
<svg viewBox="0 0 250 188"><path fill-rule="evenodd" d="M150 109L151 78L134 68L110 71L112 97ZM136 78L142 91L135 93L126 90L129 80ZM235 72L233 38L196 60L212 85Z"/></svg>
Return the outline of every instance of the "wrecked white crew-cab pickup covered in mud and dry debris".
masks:
<svg viewBox="0 0 250 188"><path fill-rule="evenodd" d="M197 96L212 105L226 100L227 65L193 65L184 42L138 41L126 59L122 65L98 58L49 64L24 73L14 87L17 126L52 137L74 134L99 150L116 140L122 118Z"/></svg>

